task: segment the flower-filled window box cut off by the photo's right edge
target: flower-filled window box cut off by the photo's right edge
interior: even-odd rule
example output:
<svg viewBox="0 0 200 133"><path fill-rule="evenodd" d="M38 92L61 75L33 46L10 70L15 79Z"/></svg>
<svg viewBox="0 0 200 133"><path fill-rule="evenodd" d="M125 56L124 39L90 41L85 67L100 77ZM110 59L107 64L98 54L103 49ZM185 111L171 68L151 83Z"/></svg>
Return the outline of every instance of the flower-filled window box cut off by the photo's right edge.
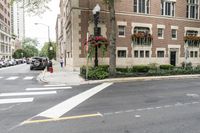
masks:
<svg viewBox="0 0 200 133"><path fill-rule="evenodd" d="M188 46L198 47L200 44L200 37L193 36L193 35L187 35L184 37L184 41L185 41L185 43L188 44Z"/></svg>

